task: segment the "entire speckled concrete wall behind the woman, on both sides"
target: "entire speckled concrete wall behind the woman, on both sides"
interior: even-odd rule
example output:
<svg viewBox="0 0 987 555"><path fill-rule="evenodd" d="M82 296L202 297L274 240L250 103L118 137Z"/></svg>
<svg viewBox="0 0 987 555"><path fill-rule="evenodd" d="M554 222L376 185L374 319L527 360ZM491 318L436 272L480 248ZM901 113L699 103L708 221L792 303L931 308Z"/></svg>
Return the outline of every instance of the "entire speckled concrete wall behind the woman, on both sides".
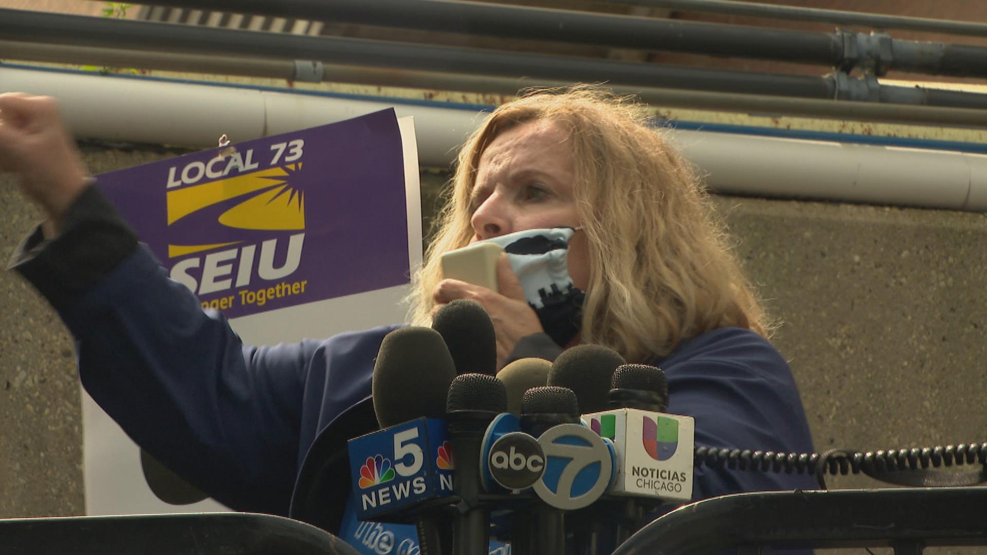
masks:
<svg viewBox="0 0 987 555"><path fill-rule="evenodd" d="M90 149L95 173L177 152ZM424 205L446 179L422 174ZM932 184L931 184L932 185ZM737 252L785 324L817 450L987 440L982 214L718 198ZM0 177L5 259L37 211ZM84 512L72 342L37 293L0 273L0 517ZM841 478L836 487L876 487Z"/></svg>

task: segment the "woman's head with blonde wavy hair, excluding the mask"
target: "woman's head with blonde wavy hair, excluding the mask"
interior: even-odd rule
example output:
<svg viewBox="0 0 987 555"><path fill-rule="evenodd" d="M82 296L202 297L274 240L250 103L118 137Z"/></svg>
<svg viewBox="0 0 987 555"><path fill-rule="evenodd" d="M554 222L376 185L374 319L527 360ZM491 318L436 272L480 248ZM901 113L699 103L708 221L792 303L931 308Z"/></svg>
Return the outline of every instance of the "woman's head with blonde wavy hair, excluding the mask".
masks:
<svg viewBox="0 0 987 555"><path fill-rule="evenodd" d="M527 220L512 218L536 209L544 222L538 225L581 232L569 254L580 265L570 269L577 286L588 292L577 326L581 343L645 362L717 328L766 335L764 312L712 202L663 135L640 105L592 89L543 91L493 111L460 151L451 198L418 276L416 322L430 320L436 301L465 293L444 291L438 255L523 229ZM506 174L484 164L502 156L501 146L511 149L509 163L520 165L497 167ZM524 173L525 163L542 173ZM553 202L565 212L541 215Z"/></svg>

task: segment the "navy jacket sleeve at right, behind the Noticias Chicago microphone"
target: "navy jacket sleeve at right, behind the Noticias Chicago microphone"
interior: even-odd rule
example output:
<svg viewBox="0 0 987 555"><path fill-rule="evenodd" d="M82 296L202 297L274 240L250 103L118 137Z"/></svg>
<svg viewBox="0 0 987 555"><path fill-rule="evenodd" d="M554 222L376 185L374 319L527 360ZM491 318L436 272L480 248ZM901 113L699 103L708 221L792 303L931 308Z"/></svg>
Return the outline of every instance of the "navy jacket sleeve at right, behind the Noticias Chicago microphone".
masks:
<svg viewBox="0 0 987 555"><path fill-rule="evenodd" d="M716 332L715 332L716 333ZM696 356L662 365L670 414L691 416L696 446L812 452L805 413L788 363L764 338L726 330ZM811 474L695 467L693 501L732 493L812 490Z"/></svg>

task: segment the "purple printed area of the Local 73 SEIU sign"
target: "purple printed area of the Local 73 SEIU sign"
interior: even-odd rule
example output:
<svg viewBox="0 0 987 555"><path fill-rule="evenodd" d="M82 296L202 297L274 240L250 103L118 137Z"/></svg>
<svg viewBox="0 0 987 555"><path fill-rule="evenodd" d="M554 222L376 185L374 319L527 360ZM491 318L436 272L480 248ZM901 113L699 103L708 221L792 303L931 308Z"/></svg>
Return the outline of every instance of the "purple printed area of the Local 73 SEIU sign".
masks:
<svg viewBox="0 0 987 555"><path fill-rule="evenodd" d="M393 110L231 146L97 178L203 305L238 317L410 281Z"/></svg>

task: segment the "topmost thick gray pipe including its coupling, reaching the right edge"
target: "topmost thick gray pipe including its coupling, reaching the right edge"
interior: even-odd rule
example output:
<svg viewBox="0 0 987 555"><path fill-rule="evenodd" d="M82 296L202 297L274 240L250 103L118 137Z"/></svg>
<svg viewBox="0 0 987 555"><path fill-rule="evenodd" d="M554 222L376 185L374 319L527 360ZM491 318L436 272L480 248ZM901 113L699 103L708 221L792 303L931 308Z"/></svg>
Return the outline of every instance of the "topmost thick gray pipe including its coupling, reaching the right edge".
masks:
<svg viewBox="0 0 987 555"><path fill-rule="evenodd" d="M855 64L939 75L987 77L987 47L872 38L738 25L671 21L461 0L156 0L156 5L491 35L557 40L821 64L849 71ZM871 42L873 41L873 45ZM885 43L886 42L886 43ZM880 49L893 50L881 55ZM873 56L872 56L873 54ZM875 57L874 57L875 56Z"/></svg>

